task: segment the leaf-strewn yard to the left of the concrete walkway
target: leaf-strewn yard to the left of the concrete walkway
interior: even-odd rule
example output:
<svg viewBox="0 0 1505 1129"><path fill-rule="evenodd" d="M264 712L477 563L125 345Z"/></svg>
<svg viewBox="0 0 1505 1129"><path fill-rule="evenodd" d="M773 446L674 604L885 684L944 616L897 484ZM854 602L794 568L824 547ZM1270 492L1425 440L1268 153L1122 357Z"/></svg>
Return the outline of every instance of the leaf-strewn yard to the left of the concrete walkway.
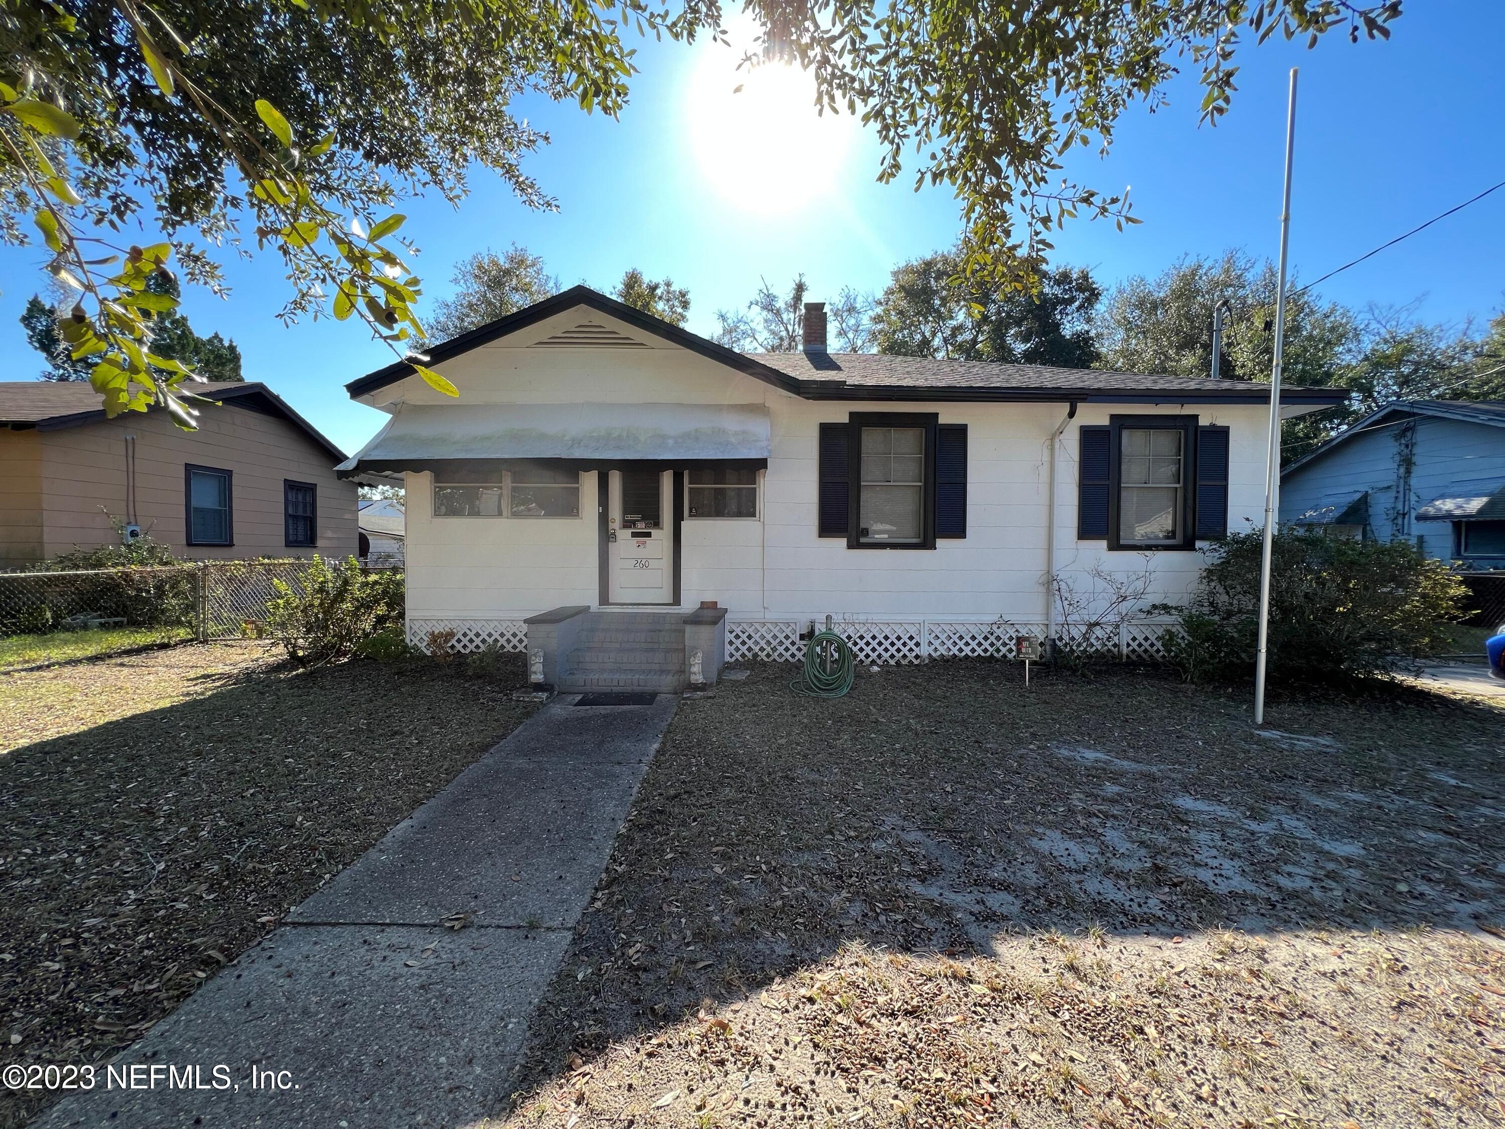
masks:
<svg viewBox="0 0 1505 1129"><path fill-rule="evenodd" d="M522 721L521 677L245 646L0 676L0 1060L137 1039Z"/></svg>

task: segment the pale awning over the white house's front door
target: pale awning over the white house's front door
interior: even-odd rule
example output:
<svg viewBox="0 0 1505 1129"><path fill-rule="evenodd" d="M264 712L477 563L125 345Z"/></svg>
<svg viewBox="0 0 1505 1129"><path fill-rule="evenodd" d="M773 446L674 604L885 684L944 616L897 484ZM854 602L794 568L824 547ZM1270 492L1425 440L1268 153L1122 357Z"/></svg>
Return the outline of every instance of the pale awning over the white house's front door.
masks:
<svg viewBox="0 0 1505 1129"><path fill-rule="evenodd" d="M485 459L768 464L762 403L405 403L337 470L418 471Z"/></svg>

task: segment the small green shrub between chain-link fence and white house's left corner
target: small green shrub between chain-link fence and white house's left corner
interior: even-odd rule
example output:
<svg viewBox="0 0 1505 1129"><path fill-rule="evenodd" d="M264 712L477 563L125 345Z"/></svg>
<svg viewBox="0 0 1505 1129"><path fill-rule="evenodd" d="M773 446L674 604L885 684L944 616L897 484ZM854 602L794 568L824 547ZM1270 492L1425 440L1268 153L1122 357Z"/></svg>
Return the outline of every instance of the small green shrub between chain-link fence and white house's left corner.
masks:
<svg viewBox="0 0 1505 1129"><path fill-rule="evenodd" d="M292 587L272 581L266 631L299 667L319 667L355 653L378 632L402 623L402 580L369 574L355 557L313 563Z"/></svg>

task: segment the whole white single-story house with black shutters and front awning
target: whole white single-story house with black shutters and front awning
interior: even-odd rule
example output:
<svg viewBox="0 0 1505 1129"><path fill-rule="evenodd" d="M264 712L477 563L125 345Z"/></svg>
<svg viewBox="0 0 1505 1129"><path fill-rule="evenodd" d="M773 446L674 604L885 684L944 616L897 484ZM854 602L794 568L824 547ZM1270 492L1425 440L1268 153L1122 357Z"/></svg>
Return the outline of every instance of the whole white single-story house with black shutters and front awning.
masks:
<svg viewBox="0 0 1505 1129"><path fill-rule="evenodd" d="M995 653L1060 631L1057 589L1184 596L1199 540L1261 516L1267 385L835 354L805 310L802 352L743 355L576 286L432 349L458 397L349 384L391 420L342 473L406 474L409 638L715 602L730 658L826 614L862 658Z"/></svg>

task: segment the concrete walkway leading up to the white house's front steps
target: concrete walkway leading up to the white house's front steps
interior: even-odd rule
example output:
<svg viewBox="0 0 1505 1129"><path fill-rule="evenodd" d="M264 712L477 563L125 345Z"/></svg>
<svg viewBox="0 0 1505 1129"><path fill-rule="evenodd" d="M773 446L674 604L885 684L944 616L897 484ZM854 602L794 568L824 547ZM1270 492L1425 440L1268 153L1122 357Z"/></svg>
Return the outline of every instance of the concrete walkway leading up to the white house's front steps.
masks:
<svg viewBox="0 0 1505 1129"><path fill-rule="evenodd" d="M221 1066L227 1088L173 1087L166 1070L150 1090L105 1088L101 1073L39 1124L464 1126L492 1112L676 704L575 700L519 726L116 1061L141 1085L158 1064L214 1087ZM458 914L465 926L447 927Z"/></svg>

